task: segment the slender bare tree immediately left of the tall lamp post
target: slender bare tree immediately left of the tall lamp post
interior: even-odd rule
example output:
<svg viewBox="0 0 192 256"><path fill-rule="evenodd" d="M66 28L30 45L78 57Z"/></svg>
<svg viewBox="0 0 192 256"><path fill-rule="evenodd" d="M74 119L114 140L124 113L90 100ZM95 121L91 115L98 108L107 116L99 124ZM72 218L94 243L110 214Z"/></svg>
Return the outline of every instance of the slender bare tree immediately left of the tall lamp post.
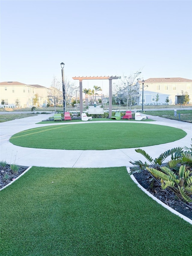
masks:
<svg viewBox="0 0 192 256"><path fill-rule="evenodd" d="M59 101L62 101L62 91L61 91L61 83L57 80L55 76L53 76L53 80L51 82L51 91L50 95L48 95L48 98L50 101L52 101L53 106L55 107L55 113L56 113L56 106Z"/></svg>

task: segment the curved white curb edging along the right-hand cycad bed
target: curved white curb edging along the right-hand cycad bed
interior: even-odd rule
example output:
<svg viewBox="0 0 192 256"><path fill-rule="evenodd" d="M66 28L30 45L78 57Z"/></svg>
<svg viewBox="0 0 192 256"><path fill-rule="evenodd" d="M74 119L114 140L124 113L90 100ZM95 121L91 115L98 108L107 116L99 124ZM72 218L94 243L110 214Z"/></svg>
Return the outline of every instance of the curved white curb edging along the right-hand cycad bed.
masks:
<svg viewBox="0 0 192 256"><path fill-rule="evenodd" d="M130 173L130 168L127 167L127 171L128 173ZM165 207L166 209L168 209L170 212L174 213L175 215L178 215L180 218L184 219L185 221L189 222L190 224L192 224L192 220L190 218L187 218L186 216L182 215L181 213L177 212L176 210L172 209L171 207L169 207L167 204L161 202L157 197L154 197L151 193L149 193L145 188L143 188L135 179L135 177L133 176L133 174L130 175L131 179L137 184L137 186L144 191L149 197L151 197L153 200L155 200L156 202L158 202L159 204L161 204L163 207Z"/></svg>

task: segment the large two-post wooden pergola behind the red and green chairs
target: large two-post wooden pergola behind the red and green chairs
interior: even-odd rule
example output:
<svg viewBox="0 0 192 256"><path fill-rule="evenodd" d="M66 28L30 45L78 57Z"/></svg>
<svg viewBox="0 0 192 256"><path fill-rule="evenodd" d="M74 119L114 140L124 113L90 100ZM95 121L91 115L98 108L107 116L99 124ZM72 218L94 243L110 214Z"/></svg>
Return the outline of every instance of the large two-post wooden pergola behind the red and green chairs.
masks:
<svg viewBox="0 0 192 256"><path fill-rule="evenodd" d="M112 114L112 80L119 79L119 77L72 77L74 80L79 80L79 96L80 96L80 115L83 113L83 92L82 80L108 79L109 80L109 117Z"/></svg>

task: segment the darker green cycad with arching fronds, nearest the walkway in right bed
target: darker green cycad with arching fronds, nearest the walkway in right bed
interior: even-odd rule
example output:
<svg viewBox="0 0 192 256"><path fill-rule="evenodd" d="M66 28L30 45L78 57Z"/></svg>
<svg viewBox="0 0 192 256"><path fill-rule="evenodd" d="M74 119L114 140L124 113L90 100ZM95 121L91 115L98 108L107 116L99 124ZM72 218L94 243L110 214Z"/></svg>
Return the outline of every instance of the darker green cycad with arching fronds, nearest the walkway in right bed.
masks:
<svg viewBox="0 0 192 256"><path fill-rule="evenodd" d="M173 149L169 149L165 151L164 153L161 153L161 155L158 158L153 159L150 155L148 155L145 150L143 149L135 149L137 153L140 153L143 155L152 165L161 166L163 161L168 157L171 156L171 161L169 161L169 164L176 167L178 163L181 163L181 157L183 153L182 147L177 147ZM142 161L130 161L131 164L134 165L134 167L131 167L131 173L140 172L143 169L146 169L146 167L149 167L149 164L146 162L143 163ZM173 167L172 167L173 168Z"/></svg>

